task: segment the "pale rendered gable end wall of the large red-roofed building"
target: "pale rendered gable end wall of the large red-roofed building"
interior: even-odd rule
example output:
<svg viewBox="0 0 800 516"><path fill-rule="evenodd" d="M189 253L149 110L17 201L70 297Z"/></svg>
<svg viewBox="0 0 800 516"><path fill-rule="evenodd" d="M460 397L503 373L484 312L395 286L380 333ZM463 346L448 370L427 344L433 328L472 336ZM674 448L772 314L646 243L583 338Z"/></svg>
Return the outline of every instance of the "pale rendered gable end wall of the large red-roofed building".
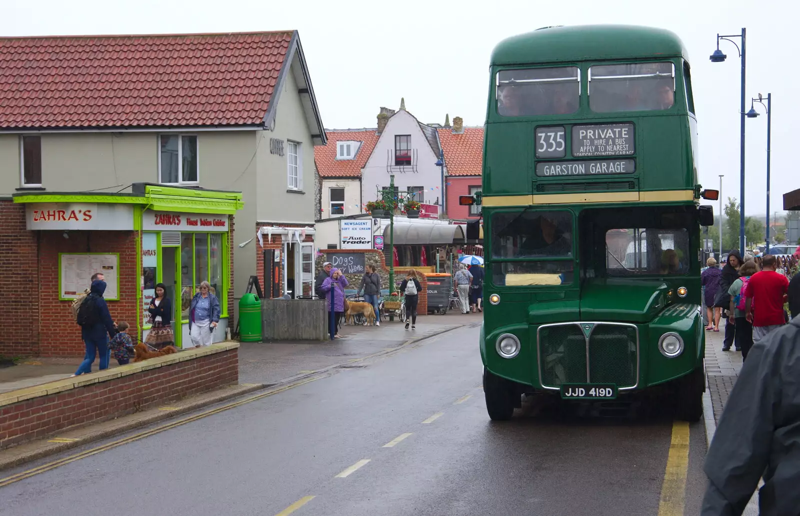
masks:
<svg viewBox="0 0 800 516"><path fill-rule="evenodd" d="M258 220L314 224L314 141L300 101L298 84L294 80L295 66L299 66L297 60L287 70L289 73L276 108L274 130L262 131L262 142L258 146ZM270 153L270 138L283 141L283 156ZM301 192L288 191L289 141L301 144Z"/></svg>

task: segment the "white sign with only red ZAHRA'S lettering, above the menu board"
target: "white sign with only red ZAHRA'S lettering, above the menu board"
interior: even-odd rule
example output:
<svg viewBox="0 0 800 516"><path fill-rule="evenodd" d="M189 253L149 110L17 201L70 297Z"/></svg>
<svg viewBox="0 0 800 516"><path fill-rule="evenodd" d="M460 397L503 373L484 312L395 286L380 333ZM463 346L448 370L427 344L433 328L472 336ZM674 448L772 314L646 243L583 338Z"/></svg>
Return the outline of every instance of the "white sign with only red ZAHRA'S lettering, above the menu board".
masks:
<svg viewBox="0 0 800 516"><path fill-rule="evenodd" d="M29 203L25 207L26 228L55 231L133 231L132 204Z"/></svg>

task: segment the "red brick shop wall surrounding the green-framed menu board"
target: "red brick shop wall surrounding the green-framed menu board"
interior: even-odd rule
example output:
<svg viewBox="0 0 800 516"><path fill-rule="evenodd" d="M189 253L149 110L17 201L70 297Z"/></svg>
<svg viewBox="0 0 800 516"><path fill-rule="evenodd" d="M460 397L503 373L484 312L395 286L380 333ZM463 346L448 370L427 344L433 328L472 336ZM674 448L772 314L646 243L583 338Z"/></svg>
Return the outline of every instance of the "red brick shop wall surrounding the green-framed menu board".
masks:
<svg viewBox="0 0 800 516"><path fill-rule="evenodd" d="M59 252L118 252L120 300L108 301L108 308L112 319L124 320L136 327L139 313L136 289L141 288L141 277L136 268L136 232L70 231L69 238L64 238L60 231L42 231L40 234L38 304L41 309L38 331L42 336L39 355L75 356L86 351L81 327L74 323L70 310L72 301L58 300Z"/></svg>

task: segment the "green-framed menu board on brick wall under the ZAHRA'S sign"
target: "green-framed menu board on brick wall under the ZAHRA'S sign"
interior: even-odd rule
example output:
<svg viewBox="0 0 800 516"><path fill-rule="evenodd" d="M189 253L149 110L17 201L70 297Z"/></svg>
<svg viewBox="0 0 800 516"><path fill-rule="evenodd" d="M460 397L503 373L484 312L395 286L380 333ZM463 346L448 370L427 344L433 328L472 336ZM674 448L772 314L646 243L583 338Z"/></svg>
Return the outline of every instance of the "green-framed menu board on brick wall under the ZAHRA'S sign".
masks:
<svg viewBox="0 0 800 516"><path fill-rule="evenodd" d="M119 253L58 253L58 299L74 300L92 283L92 275L101 272L106 280L103 298L119 300Z"/></svg>

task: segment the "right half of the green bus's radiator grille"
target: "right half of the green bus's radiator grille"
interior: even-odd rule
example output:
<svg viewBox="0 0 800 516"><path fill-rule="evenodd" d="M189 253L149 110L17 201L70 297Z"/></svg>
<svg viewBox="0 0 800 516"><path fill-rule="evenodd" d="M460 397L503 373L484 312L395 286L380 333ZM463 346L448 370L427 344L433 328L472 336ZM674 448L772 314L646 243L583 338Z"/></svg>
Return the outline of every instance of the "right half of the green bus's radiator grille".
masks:
<svg viewBox="0 0 800 516"><path fill-rule="evenodd" d="M636 385L637 355L634 327L596 325L589 337L590 383L633 387Z"/></svg>

